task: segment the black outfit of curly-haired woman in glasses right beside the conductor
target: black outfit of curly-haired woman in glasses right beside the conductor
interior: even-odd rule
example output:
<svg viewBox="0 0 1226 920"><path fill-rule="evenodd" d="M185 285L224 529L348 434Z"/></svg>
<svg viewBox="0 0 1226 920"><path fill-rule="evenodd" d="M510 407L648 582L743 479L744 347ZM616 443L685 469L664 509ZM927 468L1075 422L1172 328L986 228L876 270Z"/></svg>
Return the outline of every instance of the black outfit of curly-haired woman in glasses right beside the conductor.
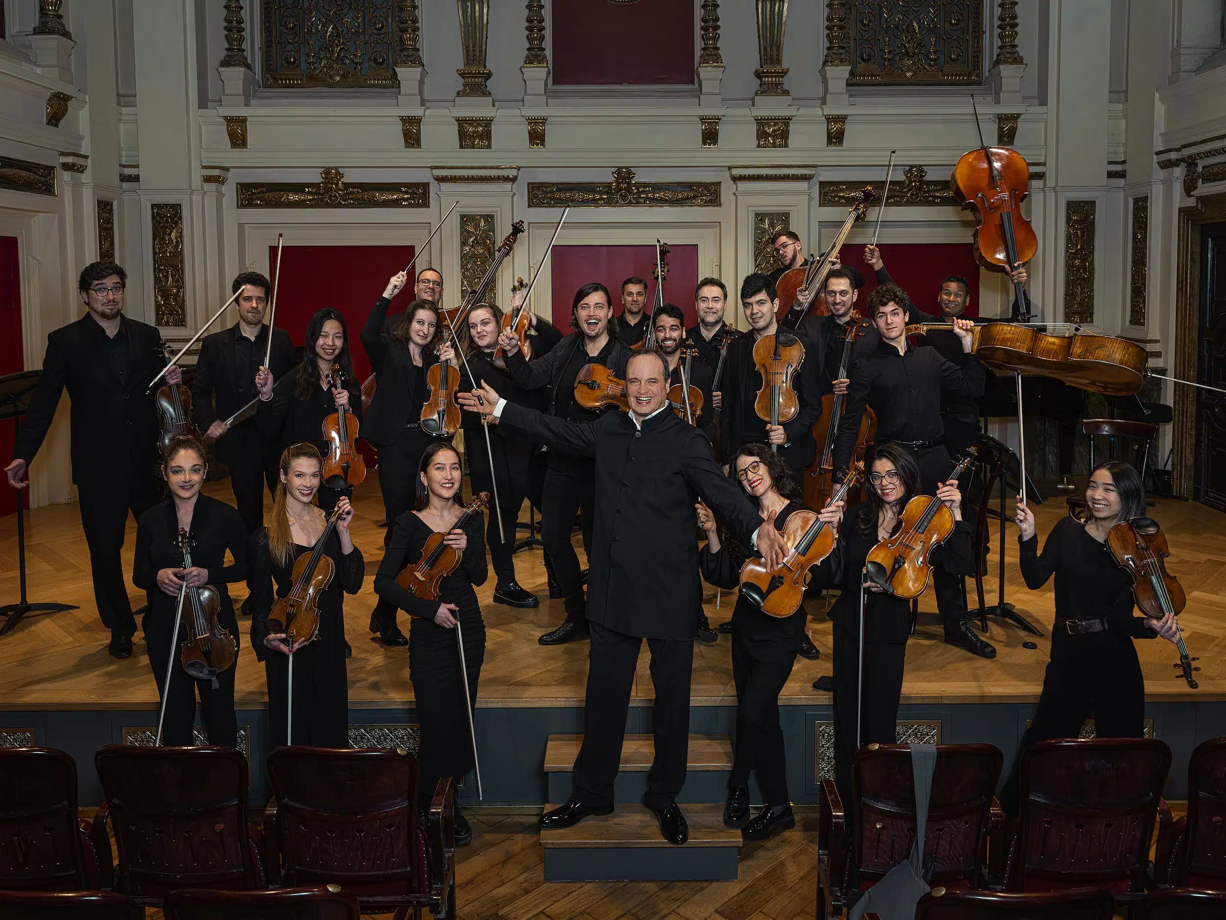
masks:
<svg viewBox="0 0 1226 920"><path fill-rule="evenodd" d="M788 516L804 505L788 502L775 518L781 531ZM743 552L721 543L720 552L702 547L699 569L717 588L733 589L741 581ZM766 805L787 805L787 756L779 719L779 694L796 664L804 634L804 607L790 617L772 617L737 596L732 608L732 680L737 684L737 747L728 788L744 786L758 775Z"/></svg>

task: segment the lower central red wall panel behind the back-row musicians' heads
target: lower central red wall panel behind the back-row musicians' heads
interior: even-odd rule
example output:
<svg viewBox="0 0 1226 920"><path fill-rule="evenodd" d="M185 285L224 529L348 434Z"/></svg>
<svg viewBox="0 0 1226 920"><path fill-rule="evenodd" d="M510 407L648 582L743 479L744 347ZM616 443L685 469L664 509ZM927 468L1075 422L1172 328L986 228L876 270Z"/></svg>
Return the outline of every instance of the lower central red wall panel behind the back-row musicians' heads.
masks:
<svg viewBox="0 0 1226 920"><path fill-rule="evenodd" d="M565 247L555 245L550 255L553 314L550 321L563 332L570 328L570 308L575 291L591 281L600 281L613 296L613 313L622 314L622 282L638 275L647 282L647 309L656 296L651 266L656 247ZM694 313L694 286L698 283L698 247L673 247L668 256L668 280L664 282L664 303L673 303L685 313L685 325L698 321Z"/></svg>

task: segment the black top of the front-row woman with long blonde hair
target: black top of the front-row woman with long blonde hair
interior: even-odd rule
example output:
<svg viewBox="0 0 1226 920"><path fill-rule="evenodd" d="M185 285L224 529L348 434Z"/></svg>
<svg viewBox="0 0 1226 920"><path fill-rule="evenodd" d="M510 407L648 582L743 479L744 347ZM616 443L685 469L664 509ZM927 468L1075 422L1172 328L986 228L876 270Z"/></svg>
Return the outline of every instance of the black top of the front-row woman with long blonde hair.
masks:
<svg viewBox="0 0 1226 920"><path fill-rule="evenodd" d="M251 648L255 649L255 657L264 661L272 649L264 644L265 638L271 634L283 632L283 624L270 628L268 615L272 605L278 597L284 597L294 585L293 569L298 557L309 553L314 547L294 545L293 558L288 565L282 565L273 561L268 550L268 530L260 527L251 535L250 565L251 565ZM367 572L362 551L354 546L348 554L341 553L341 539L333 529L324 545L324 554L331 557L336 565L336 574L329 581L326 589L319 597L320 635L325 640L340 642L345 638L343 597L345 594L357 594L362 590L362 579ZM276 592L273 592L273 580L276 580Z"/></svg>

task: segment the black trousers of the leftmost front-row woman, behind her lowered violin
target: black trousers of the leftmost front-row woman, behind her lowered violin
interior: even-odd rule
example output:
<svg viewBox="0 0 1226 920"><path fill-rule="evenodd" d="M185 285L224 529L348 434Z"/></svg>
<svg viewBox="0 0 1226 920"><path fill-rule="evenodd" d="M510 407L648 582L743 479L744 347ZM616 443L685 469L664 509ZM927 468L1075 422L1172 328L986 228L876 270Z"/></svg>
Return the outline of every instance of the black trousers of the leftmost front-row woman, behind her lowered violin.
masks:
<svg viewBox="0 0 1226 920"><path fill-rule="evenodd" d="M185 610L184 616L188 615ZM234 622L234 610L228 602L222 605L218 618L238 643L238 623ZM157 681L158 697L166 699L162 743L173 747L186 747L196 743L191 737L191 729L196 724L196 696L199 694L200 710L205 718L205 727L208 730L208 743L238 747L238 720L234 716L234 675L238 671L238 656L235 655L234 664L228 670L217 675L217 689L213 689L212 681L194 680L183 670L183 655L180 654L185 638L183 627L179 627L179 642L172 649L173 633L173 616L150 613L145 617L145 639L148 645L150 667L153 671L153 680ZM167 688L166 667L172 654L175 662L170 671L170 686Z"/></svg>

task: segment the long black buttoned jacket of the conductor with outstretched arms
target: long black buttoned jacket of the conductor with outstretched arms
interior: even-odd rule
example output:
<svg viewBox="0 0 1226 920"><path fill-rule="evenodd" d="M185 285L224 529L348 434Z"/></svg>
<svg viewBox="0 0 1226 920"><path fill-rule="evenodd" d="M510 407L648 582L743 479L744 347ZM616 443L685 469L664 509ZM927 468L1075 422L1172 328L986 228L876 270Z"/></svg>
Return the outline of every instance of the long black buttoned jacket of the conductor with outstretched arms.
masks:
<svg viewBox="0 0 1226 920"><path fill-rule="evenodd" d="M748 545L758 509L725 476L706 437L666 408L640 431L626 412L568 422L506 404L504 426L550 448L596 458L596 521L587 618L625 635L689 642L698 629L699 496Z"/></svg>

